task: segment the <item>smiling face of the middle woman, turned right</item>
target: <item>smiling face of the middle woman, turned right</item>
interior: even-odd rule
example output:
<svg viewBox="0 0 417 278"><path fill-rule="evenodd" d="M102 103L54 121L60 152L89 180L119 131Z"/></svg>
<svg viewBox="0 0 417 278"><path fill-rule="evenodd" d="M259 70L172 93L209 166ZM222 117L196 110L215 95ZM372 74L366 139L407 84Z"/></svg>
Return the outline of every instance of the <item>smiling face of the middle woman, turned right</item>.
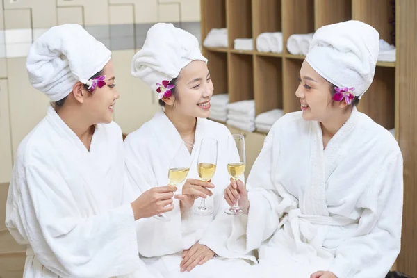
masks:
<svg viewBox="0 0 417 278"><path fill-rule="evenodd" d="M182 116L206 118L210 115L213 83L205 62L194 60L183 67L174 90L174 95L163 98L165 108L174 106L173 113Z"/></svg>

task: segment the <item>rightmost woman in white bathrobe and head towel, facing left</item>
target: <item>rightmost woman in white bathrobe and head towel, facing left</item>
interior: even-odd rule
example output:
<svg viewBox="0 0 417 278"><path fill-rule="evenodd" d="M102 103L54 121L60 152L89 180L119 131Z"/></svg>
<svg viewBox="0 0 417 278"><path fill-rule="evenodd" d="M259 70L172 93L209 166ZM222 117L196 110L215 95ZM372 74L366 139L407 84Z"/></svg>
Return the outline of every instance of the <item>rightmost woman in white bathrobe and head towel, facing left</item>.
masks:
<svg viewBox="0 0 417 278"><path fill-rule="evenodd" d="M355 107L373 81L378 39L357 21L319 28L295 92L302 111L272 127L247 190L240 181L224 190L249 213L219 244L259 248L255 270L266 277L383 278L400 252L402 154Z"/></svg>

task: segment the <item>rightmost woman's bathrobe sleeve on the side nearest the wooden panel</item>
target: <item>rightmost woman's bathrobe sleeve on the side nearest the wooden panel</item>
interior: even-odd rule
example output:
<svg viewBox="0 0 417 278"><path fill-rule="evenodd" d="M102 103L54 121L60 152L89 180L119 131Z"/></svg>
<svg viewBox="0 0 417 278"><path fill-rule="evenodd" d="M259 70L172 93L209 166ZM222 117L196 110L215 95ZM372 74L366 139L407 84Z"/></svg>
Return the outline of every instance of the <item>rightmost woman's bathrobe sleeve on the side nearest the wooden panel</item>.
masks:
<svg viewBox="0 0 417 278"><path fill-rule="evenodd" d="M338 278L385 277L400 252L403 177L402 156L387 159L374 183L359 199L363 208L357 234L336 250L329 271Z"/></svg>

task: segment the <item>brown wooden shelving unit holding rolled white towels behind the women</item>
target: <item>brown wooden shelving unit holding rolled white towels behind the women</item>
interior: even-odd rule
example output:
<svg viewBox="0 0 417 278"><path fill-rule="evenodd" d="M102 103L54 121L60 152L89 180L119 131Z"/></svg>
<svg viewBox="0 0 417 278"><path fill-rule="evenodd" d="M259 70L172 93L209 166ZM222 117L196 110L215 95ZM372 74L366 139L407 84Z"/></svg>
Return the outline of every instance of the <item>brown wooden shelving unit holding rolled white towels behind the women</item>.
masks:
<svg viewBox="0 0 417 278"><path fill-rule="evenodd" d="M211 28L228 29L229 47L203 47L215 94L228 92L231 102L254 99L256 115L274 108L282 108L285 113L300 110L295 90L305 57L288 53L290 35L313 33L327 24L357 19L372 25L380 38L396 45L397 61L377 63L373 84L358 109L386 129L395 128L404 154L406 227L397 268L417 277L417 1L201 0L201 10L202 40ZM282 53L256 51L259 34L277 31L283 34ZM234 49L235 38L252 38L254 51Z"/></svg>

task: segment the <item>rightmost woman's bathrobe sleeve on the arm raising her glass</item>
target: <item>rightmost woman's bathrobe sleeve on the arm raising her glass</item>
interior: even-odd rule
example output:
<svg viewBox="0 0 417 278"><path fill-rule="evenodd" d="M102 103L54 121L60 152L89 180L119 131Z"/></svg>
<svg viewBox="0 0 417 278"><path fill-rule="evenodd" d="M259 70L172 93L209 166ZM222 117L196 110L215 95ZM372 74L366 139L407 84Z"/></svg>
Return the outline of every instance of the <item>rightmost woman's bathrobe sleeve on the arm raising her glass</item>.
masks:
<svg viewBox="0 0 417 278"><path fill-rule="evenodd" d="M261 246L263 240L269 238L277 229L281 196L275 188L275 157L279 147L275 142L277 126L272 128L265 138L261 153L247 179L250 210L248 215L231 217L223 213L215 219L212 229L201 242L211 247L220 256L228 258L244 258L255 261L252 250Z"/></svg>

